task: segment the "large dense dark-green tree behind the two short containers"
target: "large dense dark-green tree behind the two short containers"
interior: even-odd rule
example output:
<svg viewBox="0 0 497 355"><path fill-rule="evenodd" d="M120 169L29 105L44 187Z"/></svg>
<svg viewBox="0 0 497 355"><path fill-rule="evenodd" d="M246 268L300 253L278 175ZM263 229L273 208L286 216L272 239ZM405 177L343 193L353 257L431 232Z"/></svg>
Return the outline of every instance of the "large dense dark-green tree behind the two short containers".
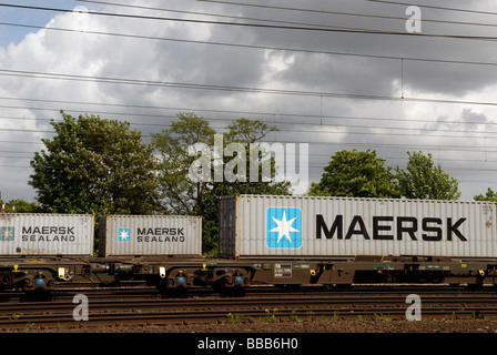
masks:
<svg viewBox="0 0 497 355"><path fill-rule="evenodd" d="M61 111L37 152L30 185L53 213L151 214L160 209L156 160L130 123Z"/></svg>

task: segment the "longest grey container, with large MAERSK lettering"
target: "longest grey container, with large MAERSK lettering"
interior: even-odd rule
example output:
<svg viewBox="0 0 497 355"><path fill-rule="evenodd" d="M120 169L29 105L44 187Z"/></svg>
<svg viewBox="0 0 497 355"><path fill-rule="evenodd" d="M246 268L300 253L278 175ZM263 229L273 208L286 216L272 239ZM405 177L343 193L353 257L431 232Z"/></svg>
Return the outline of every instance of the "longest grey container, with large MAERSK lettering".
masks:
<svg viewBox="0 0 497 355"><path fill-rule="evenodd" d="M220 201L221 257L497 257L491 202L235 195Z"/></svg>

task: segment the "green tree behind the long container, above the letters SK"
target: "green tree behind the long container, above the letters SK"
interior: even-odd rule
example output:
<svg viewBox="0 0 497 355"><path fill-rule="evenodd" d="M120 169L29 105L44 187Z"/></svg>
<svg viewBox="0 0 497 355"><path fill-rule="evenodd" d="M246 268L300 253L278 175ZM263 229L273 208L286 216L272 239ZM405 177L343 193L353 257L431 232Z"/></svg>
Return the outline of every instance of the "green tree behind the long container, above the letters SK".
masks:
<svg viewBox="0 0 497 355"><path fill-rule="evenodd" d="M432 154L407 152L407 168L396 169L396 179L400 194L407 199L457 200L460 196L458 182L450 178L440 164L435 166Z"/></svg>

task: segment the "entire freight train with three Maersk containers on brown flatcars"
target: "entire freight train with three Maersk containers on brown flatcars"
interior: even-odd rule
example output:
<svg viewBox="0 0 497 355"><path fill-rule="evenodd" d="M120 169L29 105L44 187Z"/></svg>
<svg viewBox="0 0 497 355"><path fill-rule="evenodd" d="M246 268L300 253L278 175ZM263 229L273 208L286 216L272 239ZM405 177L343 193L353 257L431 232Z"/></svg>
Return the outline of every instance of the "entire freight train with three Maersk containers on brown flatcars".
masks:
<svg viewBox="0 0 497 355"><path fill-rule="evenodd" d="M197 216L0 214L0 290L497 284L493 202L232 195L219 257Z"/></svg>

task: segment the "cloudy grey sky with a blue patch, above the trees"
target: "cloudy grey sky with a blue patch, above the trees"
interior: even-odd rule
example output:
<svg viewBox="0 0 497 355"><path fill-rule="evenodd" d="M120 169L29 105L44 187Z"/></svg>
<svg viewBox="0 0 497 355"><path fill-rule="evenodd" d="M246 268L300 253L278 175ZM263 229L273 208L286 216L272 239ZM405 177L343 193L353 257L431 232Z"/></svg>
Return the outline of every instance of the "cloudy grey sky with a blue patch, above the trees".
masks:
<svg viewBox="0 0 497 355"><path fill-rule="evenodd" d="M308 144L310 183L339 150L392 168L423 151L473 200L497 190L496 16L491 0L2 1L1 197L36 201L30 160L63 110L145 141L180 112L262 120L280 129L265 141Z"/></svg>

